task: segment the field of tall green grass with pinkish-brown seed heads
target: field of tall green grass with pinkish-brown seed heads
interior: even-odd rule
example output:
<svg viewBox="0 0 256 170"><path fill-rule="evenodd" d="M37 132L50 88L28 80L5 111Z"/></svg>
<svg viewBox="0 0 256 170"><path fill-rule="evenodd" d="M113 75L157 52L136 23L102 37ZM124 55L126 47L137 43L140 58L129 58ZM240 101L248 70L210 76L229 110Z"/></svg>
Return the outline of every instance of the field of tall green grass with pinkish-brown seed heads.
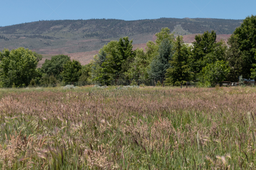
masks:
<svg viewBox="0 0 256 170"><path fill-rule="evenodd" d="M256 168L254 87L90 90L1 89L0 167Z"/></svg>

